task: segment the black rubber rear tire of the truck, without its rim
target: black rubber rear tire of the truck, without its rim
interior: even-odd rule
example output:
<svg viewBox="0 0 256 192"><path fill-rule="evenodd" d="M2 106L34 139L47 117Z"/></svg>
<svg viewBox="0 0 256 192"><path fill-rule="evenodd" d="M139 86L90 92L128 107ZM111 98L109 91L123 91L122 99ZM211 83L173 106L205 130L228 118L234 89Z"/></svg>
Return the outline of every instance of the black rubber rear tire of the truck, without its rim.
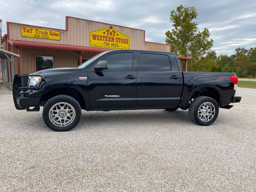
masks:
<svg viewBox="0 0 256 192"><path fill-rule="evenodd" d="M215 113L214 116L212 117L212 119L210 121L204 122L202 120L200 120L199 116L198 116L198 109L199 107L205 103L205 102L210 102L214 105L215 108ZM207 96L199 96L196 97L190 104L189 108L188 108L188 116L190 117L190 119L199 125L203 125L203 126L207 126L212 124L218 117L219 114L219 105L218 103L211 97L207 97Z"/></svg>

